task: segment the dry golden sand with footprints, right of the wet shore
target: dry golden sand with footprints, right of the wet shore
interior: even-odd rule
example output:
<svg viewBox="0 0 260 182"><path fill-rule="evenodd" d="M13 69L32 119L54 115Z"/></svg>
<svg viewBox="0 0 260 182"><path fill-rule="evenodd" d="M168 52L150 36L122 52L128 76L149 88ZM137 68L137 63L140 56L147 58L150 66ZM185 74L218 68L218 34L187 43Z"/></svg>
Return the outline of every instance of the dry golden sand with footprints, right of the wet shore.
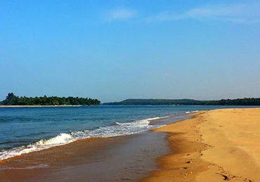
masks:
<svg viewBox="0 0 260 182"><path fill-rule="evenodd" d="M260 181L260 108L197 112L169 124L171 154L141 181Z"/></svg>

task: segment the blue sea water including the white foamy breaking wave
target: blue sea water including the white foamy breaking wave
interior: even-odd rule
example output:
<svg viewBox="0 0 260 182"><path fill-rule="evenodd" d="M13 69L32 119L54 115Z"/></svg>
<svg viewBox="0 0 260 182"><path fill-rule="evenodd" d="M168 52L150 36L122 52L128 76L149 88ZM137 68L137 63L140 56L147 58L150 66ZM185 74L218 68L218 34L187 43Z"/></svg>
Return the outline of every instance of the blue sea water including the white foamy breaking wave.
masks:
<svg viewBox="0 0 260 182"><path fill-rule="evenodd" d="M204 105L99 105L96 107L0 108L0 160L83 138L137 134L162 126L156 119ZM229 107L230 108L230 107ZM233 108L233 107L232 107Z"/></svg>

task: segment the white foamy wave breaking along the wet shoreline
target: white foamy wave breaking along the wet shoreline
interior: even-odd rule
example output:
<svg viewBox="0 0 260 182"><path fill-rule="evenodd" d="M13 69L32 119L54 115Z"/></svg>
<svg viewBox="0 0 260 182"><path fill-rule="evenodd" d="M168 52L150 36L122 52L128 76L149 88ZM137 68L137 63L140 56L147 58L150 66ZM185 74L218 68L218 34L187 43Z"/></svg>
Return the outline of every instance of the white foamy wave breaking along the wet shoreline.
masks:
<svg viewBox="0 0 260 182"><path fill-rule="evenodd" d="M161 118L165 117L154 117L126 123L115 122L112 126L104 126L94 130L70 131L68 134L63 133L53 138L41 139L35 143L30 143L29 145L23 145L9 150L1 150L0 161L29 152L44 150L58 145L65 145L79 139L138 134L162 126L150 125L150 121Z"/></svg>

